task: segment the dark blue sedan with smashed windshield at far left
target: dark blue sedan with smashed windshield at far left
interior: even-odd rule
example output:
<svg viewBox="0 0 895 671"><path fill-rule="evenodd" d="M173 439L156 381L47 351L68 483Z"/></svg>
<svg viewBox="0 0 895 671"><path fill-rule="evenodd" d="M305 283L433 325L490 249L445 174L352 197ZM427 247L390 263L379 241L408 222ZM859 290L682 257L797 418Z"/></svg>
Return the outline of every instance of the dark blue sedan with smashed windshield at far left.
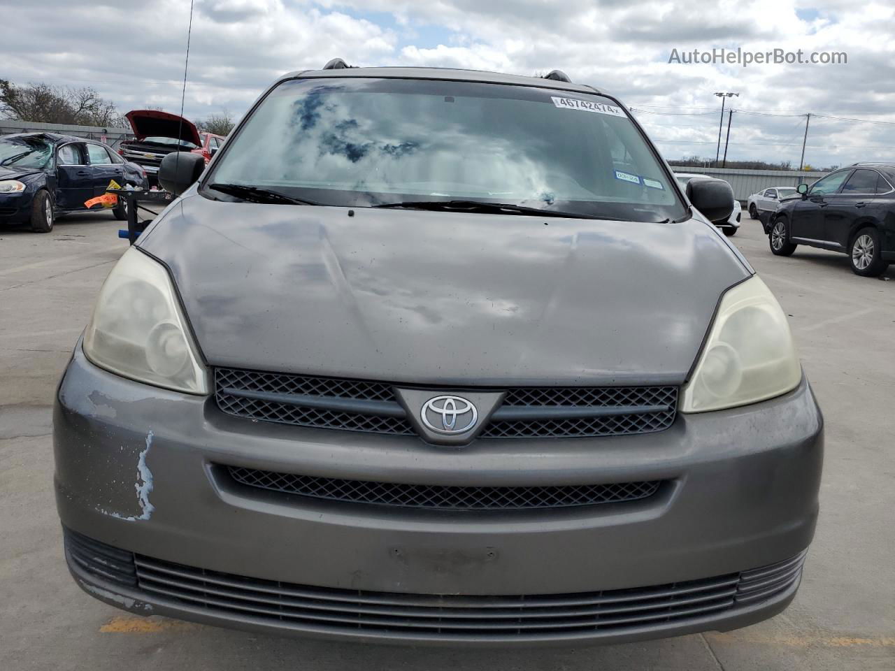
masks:
<svg viewBox="0 0 895 671"><path fill-rule="evenodd" d="M0 137L0 224L53 230L56 217L86 212L86 201L106 192L109 182L149 188L146 172L96 140L50 132ZM124 200L112 213L127 218Z"/></svg>

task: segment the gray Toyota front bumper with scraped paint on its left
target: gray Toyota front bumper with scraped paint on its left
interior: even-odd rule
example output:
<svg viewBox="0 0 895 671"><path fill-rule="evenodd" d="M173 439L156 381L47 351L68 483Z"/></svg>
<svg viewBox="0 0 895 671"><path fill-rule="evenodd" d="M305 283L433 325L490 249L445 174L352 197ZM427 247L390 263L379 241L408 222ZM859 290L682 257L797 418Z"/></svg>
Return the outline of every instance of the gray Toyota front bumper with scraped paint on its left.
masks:
<svg viewBox="0 0 895 671"><path fill-rule="evenodd" d="M609 627L519 626L508 632L505 621L488 619L493 606L481 599L499 599L504 609L507 599L518 600L520 607L532 600L540 607L545 599L550 604L572 599L605 609L605 599L618 600L628 593L618 590L631 590L632 599L641 599L637 603L655 614L656 608L668 607L652 600L659 598L655 590L662 599L675 600L679 595L666 593L671 586L730 576L739 584L743 576L761 577L777 563L794 561L814 534L823 420L803 380L793 392L765 403L678 415L671 429L652 435L480 439L447 449L416 437L229 417L213 399L98 369L79 346L57 395L54 439L56 501L64 526L110 546L113 554L135 556L137 565L149 565L175 583L175 590L166 591L116 581L114 573L109 577L72 562L69 552L81 587L115 606L144 615L366 641L632 641L731 629L772 616L793 598L801 559L788 582L780 582L767 598L729 597L734 599L729 607L697 607L686 616L640 617ZM634 480L668 485L655 496L624 504L415 510L246 488L228 480L217 464L441 485ZM97 556L101 559L102 552ZM222 583L230 605L204 592L199 592L205 594L201 603L184 598L197 594L197 575L201 584ZM268 607L247 608L241 591L246 589L252 599L279 590L280 612L292 607L289 599L299 590L311 592L299 596L315 603L321 591L337 601L334 594L347 592L361 595L368 606L386 599L416 613L435 603L479 619L475 631L458 631L447 624L444 629L346 624L344 614L290 618L271 615ZM594 605L595 593L603 596ZM446 602L462 598L472 600ZM567 622L566 617L553 622Z"/></svg>

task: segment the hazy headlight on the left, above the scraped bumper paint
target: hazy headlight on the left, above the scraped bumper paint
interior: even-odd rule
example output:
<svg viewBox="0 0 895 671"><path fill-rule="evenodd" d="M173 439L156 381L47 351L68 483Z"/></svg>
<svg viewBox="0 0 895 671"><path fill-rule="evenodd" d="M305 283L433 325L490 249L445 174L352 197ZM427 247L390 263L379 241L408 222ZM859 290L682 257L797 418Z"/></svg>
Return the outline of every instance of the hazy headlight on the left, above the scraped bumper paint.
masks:
<svg viewBox="0 0 895 671"><path fill-rule="evenodd" d="M83 349L100 368L125 378L208 394L208 375L166 269L133 247L99 291Z"/></svg>

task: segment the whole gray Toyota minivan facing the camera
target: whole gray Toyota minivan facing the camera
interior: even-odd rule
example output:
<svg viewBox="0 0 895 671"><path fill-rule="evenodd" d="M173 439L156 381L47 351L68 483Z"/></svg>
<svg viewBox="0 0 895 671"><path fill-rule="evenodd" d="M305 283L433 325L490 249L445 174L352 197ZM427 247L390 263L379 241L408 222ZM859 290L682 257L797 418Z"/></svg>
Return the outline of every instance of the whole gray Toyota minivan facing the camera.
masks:
<svg viewBox="0 0 895 671"><path fill-rule="evenodd" d="M353 641L635 641L793 599L823 420L785 315L618 99L334 61L109 274L55 402L75 581Z"/></svg>

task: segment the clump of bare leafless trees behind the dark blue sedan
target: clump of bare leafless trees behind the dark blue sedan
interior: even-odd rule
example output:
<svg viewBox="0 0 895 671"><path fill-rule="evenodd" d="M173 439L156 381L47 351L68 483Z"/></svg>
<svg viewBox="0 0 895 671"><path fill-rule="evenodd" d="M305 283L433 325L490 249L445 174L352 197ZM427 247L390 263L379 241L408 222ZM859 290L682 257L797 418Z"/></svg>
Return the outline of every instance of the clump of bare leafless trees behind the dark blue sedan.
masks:
<svg viewBox="0 0 895 671"><path fill-rule="evenodd" d="M85 126L126 125L115 104L95 89L28 84L0 80L0 115L36 123L73 123Z"/></svg>

